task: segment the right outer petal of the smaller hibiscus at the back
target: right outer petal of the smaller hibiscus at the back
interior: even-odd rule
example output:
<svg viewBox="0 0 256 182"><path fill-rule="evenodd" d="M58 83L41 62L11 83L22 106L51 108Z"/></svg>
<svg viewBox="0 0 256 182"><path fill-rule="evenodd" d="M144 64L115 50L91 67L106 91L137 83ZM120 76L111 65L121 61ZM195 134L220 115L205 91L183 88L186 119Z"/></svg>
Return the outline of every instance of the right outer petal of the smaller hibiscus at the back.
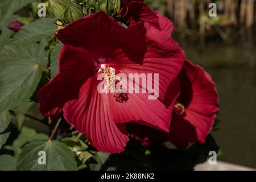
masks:
<svg viewBox="0 0 256 182"><path fill-rule="evenodd" d="M189 61L184 62L179 79L181 94L178 100L182 104L185 101L184 119L196 128L197 140L193 142L204 143L219 109L215 84L203 68Z"/></svg>

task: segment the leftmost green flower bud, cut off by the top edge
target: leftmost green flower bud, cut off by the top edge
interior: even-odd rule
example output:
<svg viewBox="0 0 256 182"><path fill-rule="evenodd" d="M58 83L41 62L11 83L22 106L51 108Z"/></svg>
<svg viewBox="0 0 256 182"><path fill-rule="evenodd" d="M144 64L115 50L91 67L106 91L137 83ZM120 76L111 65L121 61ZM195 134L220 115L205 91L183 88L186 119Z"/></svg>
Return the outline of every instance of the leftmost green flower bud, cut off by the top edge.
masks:
<svg viewBox="0 0 256 182"><path fill-rule="evenodd" d="M49 0L48 12L52 18L57 18L65 12L68 8L69 0Z"/></svg>

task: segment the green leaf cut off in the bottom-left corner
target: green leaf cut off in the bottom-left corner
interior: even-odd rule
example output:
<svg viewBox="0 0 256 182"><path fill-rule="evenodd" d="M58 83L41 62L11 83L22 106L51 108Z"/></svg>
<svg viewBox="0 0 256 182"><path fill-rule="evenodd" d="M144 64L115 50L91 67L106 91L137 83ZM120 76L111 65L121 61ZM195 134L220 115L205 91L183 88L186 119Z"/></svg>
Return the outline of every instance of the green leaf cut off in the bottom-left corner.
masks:
<svg viewBox="0 0 256 182"><path fill-rule="evenodd" d="M11 155L0 155L0 171L15 171L17 159Z"/></svg>

